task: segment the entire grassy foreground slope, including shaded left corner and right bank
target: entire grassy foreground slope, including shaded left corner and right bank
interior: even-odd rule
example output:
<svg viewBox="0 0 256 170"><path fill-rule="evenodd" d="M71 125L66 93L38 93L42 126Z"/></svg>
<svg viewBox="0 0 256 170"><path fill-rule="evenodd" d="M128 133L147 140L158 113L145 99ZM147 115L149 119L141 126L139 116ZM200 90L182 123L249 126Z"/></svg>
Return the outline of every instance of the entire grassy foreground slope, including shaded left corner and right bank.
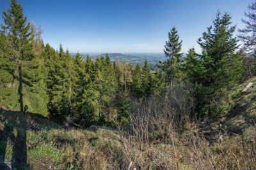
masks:
<svg viewBox="0 0 256 170"><path fill-rule="evenodd" d="M255 86L241 93L249 82ZM234 109L211 124L211 131L220 132L218 126L223 124L225 131L243 134L223 134L220 140L220 133L216 133L219 140L211 144L194 125L182 134L173 132L173 143L145 145L106 128L65 129L32 113L0 110L0 152L5 151L7 164L13 154L24 156L13 151L15 137L22 134L31 169L127 169L131 162L132 169L255 169L255 92L256 78L239 85L232 93ZM6 129L11 129L14 137Z"/></svg>

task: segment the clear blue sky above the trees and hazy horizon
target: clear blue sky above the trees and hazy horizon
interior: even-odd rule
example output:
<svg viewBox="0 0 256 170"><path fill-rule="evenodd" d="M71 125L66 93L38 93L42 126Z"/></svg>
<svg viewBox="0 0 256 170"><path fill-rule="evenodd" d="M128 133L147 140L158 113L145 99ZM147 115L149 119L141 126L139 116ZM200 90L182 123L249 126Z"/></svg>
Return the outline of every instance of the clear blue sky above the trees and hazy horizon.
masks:
<svg viewBox="0 0 256 170"><path fill-rule="evenodd" d="M163 52L172 26L192 46L211 25L216 11L229 11L237 27L253 0L17 0L40 25L45 43L70 52ZM9 7L0 0L0 10ZM3 19L0 19L3 22Z"/></svg>

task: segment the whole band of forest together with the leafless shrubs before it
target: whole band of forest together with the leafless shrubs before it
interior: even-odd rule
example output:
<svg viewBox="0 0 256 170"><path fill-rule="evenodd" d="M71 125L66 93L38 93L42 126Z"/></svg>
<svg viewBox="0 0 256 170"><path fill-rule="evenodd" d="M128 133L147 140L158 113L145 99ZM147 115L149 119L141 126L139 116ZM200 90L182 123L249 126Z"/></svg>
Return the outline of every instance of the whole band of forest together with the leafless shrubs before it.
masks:
<svg viewBox="0 0 256 170"><path fill-rule="evenodd" d="M68 128L104 126L141 143L173 145L170 129L184 132L228 114L234 87L255 76L255 15L253 3L236 36L230 13L217 11L197 40L200 53L193 47L182 53L178 28L172 27L163 42L166 60L152 70L147 60L131 66L111 62L108 53L83 59L61 44L54 49L12 0L0 31L0 108L41 115Z"/></svg>

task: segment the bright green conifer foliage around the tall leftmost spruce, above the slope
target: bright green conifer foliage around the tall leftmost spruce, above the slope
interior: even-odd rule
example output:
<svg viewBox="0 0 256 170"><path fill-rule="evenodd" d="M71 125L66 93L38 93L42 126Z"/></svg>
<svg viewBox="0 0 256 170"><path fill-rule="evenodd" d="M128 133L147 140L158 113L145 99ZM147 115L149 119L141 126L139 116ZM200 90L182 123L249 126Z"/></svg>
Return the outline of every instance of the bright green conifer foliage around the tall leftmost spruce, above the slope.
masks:
<svg viewBox="0 0 256 170"><path fill-rule="evenodd" d="M11 2L10 9L3 11L3 20L0 87L12 90L12 93L1 96L0 102L15 110L35 111L47 116L45 68L42 55L38 52L42 43L35 39L37 32L31 31L22 6L15 0Z"/></svg>

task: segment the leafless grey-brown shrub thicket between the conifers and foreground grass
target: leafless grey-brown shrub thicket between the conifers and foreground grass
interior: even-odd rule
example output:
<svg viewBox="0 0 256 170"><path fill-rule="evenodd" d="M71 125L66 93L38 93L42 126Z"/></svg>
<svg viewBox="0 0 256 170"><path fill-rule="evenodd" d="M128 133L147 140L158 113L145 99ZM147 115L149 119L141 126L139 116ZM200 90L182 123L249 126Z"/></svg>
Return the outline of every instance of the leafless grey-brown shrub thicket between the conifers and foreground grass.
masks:
<svg viewBox="0 0 256 170"><path fill-rule="evenodd" d="M193 113L195 100L189 83L175 83L163 97L134 101L130 115L131 136L138 142L166 141L173 130L182 129Z"/></svg>

